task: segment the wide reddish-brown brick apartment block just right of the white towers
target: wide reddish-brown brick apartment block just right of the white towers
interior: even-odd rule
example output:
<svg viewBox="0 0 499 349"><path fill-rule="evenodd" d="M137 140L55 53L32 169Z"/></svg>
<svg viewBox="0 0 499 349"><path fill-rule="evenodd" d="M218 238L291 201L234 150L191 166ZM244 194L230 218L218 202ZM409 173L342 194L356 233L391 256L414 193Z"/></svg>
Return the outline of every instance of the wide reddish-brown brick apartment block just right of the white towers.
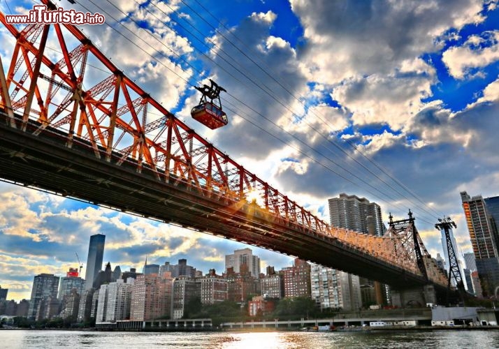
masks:
<svg viewBox="0 0 499 349"><path fill-rule="evenodd" d="M173 279L157 274L138 275L131 288L130 320L147 321L169 316Z"/></svg>

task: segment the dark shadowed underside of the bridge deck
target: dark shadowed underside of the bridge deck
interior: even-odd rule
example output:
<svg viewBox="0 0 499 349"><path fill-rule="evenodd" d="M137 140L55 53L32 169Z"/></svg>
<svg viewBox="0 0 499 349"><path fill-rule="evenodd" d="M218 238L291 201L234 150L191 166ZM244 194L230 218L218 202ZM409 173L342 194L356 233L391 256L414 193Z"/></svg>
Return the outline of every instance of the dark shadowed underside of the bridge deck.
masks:
<svg viewBox="0 0 499 349"><path fill-rule="evenodd" d="M186 228L293 255L327 267L382 281L393 288L424 285L411 274L318 235L264 209L203 195L185 184L159 181L150 170L96 158L87 149L68 149L63 139L34 136L0 119L0 177Z"/></svg>

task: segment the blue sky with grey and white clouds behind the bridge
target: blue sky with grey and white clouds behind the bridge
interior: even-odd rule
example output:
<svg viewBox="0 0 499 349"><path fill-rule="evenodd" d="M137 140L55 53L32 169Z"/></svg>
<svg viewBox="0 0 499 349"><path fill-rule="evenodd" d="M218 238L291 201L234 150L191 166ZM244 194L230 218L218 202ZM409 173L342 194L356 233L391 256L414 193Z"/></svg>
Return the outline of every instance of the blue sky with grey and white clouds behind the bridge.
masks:
<svg viewBox="0 0 499 349"><path fill-rule="evenodd" d="M411 209L428 251L442 254L450 216L459 254L471 244L461 191L499 195L499 3L479 0L85 0L106 17L83 33L152 97L269 184L328 221L328 198L357 195L389 214ZM38 1L0 0L6 14ZM222 5L223 4L223 5ZM50 46L47 54L57 57ZM13 43L0 27L3 66ZM75 45L68 41L68 45ZM103 79L89 59L87 84ZM229 124L191 119L194 86L226 89ZM157 118L148 115L148 121ZM224 272L246 245L0 182L0 285L29 299L39 273L84 264L106 235L122 270L180 258ZM286 255L250 246L261 268Z"/></svg>

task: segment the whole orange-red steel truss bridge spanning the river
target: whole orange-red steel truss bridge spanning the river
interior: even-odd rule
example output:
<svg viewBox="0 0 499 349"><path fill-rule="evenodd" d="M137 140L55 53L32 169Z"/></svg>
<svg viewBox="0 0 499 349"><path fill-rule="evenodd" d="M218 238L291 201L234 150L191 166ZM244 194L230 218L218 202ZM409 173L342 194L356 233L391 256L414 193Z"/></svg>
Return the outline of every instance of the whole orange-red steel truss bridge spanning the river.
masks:
<svg viewBox="0 0 499 349"><path fill-rule="evenodd" d="M331 227L168 112L77 27L18 30L3 13L0 22L10 38L2 43L8 57L0 61L4 180L294 255L395 289L446 289L447 277L424 248L412 215L391 221L384 237ZM101 66L97 76L85 75L89 61Z"/></svg>

